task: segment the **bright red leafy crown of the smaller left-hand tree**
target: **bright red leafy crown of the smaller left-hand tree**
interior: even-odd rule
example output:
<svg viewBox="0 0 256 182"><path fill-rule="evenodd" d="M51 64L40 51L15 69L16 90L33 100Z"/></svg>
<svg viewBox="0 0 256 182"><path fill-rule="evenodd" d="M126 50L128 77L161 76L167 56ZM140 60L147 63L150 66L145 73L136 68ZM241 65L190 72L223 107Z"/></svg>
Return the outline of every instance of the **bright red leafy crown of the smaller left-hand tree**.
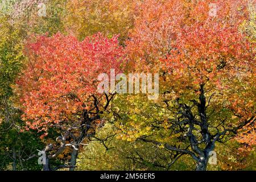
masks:
<svg viewBox="0 0 256 182"><path fill-rule="evenodd" d="M47 131L57 123L76 121L82 110L92 109L97 76L121 70L122 47L117 36L100 33L79 42L73 36L38 36L27 44L27 69L19 80L23 118L27 126ZM31 40L32 41L32 40Z"/></svg>

